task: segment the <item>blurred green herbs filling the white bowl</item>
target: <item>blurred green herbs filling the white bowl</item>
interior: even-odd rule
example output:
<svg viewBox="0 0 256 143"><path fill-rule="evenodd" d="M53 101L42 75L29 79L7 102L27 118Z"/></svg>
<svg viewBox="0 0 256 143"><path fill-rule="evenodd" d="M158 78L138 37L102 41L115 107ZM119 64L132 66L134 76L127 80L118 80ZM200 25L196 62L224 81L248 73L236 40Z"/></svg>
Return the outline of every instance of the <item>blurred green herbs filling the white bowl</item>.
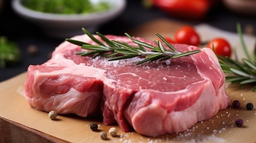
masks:
<svg viewBox="0 0 256 143"><path fill-rule="evenodd" d="M28 9L43 13L85 14L110 9L108 2L93 4L90 0L22 0Z"/></svg>

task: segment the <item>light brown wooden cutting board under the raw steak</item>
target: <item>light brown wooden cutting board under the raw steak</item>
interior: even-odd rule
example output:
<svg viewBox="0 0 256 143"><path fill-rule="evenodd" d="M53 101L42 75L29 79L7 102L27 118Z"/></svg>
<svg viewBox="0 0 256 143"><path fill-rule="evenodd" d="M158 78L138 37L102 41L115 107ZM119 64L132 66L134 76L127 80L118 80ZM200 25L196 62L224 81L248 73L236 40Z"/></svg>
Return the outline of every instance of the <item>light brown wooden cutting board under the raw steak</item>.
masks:
<svg viewBox="0 0 256 143"><path fill-rule="evenodd" d="M173 34L175 29L184 24L170 20L155 20L142 25L130 35L154 39L155 33ZM165 27L165 28L164 28ZM166 30L167 29L167 30ZM151 32L150 32L151 31ZM152 31L154 33L152 34ZM162 32L164 31L164 32ZM26 73L22 73L7 81L0 83L0 142L13 143L255 143L256 142L256 111L246 110L245 105L252 102L256 105L256 92L253 86L239 88L239 85L228 85L227 93L231 99L241 102L241 107L234 109L229 106L220 110L207 121L196 123L186 132L163 135L159 137L146 137L136 132L123 132L118 129L118 136L108 135L106 141L100 139L99 132L90 130L90 123L97 122L99 131L106 131L112 126L105 126L101 119L83 118L75 115L58 115L51 120L47 112L31 108L23 97L23 84ZM189 118L189 117L184 117ZM235 120L243 119L244 125L236 127ZM23 132L23 133L22 133Z"/></svg>

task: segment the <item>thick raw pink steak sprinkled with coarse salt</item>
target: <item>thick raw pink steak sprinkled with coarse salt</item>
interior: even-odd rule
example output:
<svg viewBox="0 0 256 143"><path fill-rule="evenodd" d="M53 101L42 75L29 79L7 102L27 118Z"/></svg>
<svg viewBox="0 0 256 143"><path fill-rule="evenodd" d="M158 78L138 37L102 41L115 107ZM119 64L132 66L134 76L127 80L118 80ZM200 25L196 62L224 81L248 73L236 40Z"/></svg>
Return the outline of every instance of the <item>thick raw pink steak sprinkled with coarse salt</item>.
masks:
<svg viewBox="0 0 256 143"><path fill-rule="evenodd" d="M128 37L106 37L133 44ZM87 35L72 39L94 43ZM180 52L200 49L173 46ZM65 41L52 59L29 66L25 97L30 106L82 117L101 114L105 125L118 123L124 132L133 128L158 136L182 132L229 105L224 73L209 48L189 57L137 66L142 58L108 62L103 57L81 57L75 54L78 51L82 51L79 46Z"/></svg>

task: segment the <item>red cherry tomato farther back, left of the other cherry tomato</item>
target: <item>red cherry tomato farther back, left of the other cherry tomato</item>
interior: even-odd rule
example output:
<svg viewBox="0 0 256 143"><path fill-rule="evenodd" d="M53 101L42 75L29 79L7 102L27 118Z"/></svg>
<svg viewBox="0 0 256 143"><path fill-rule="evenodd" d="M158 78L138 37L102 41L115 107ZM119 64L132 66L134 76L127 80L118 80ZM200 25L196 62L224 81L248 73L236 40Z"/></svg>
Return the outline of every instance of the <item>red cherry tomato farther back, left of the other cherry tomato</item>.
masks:
<svg viewBox="0 0 256 143"><path fill-rule="evenodd" d="M200 37L195 31L193 26L182 26L174 34L176 43L188 44L193 46L198 46L200 44Z"/></svg>

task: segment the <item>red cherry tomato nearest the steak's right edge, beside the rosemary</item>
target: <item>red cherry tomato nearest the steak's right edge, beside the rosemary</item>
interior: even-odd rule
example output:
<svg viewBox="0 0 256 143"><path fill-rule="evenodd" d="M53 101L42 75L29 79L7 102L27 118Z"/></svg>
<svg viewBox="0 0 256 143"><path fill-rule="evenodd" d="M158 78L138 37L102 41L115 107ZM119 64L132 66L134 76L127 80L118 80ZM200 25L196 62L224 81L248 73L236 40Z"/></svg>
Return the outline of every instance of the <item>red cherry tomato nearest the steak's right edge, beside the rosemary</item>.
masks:
<svg viewBox="0 0 256 143"><path fill-rule="evenodd" d="M232 49L231 46L229 44L229 42L227 42L227 40L225 40L224 38L221 37L217 37L213 40L211 40L208 44L207 47L213 49L216 52L217 55L220 56L228 56L231 57L231 53L232 53Z"/></svg>

